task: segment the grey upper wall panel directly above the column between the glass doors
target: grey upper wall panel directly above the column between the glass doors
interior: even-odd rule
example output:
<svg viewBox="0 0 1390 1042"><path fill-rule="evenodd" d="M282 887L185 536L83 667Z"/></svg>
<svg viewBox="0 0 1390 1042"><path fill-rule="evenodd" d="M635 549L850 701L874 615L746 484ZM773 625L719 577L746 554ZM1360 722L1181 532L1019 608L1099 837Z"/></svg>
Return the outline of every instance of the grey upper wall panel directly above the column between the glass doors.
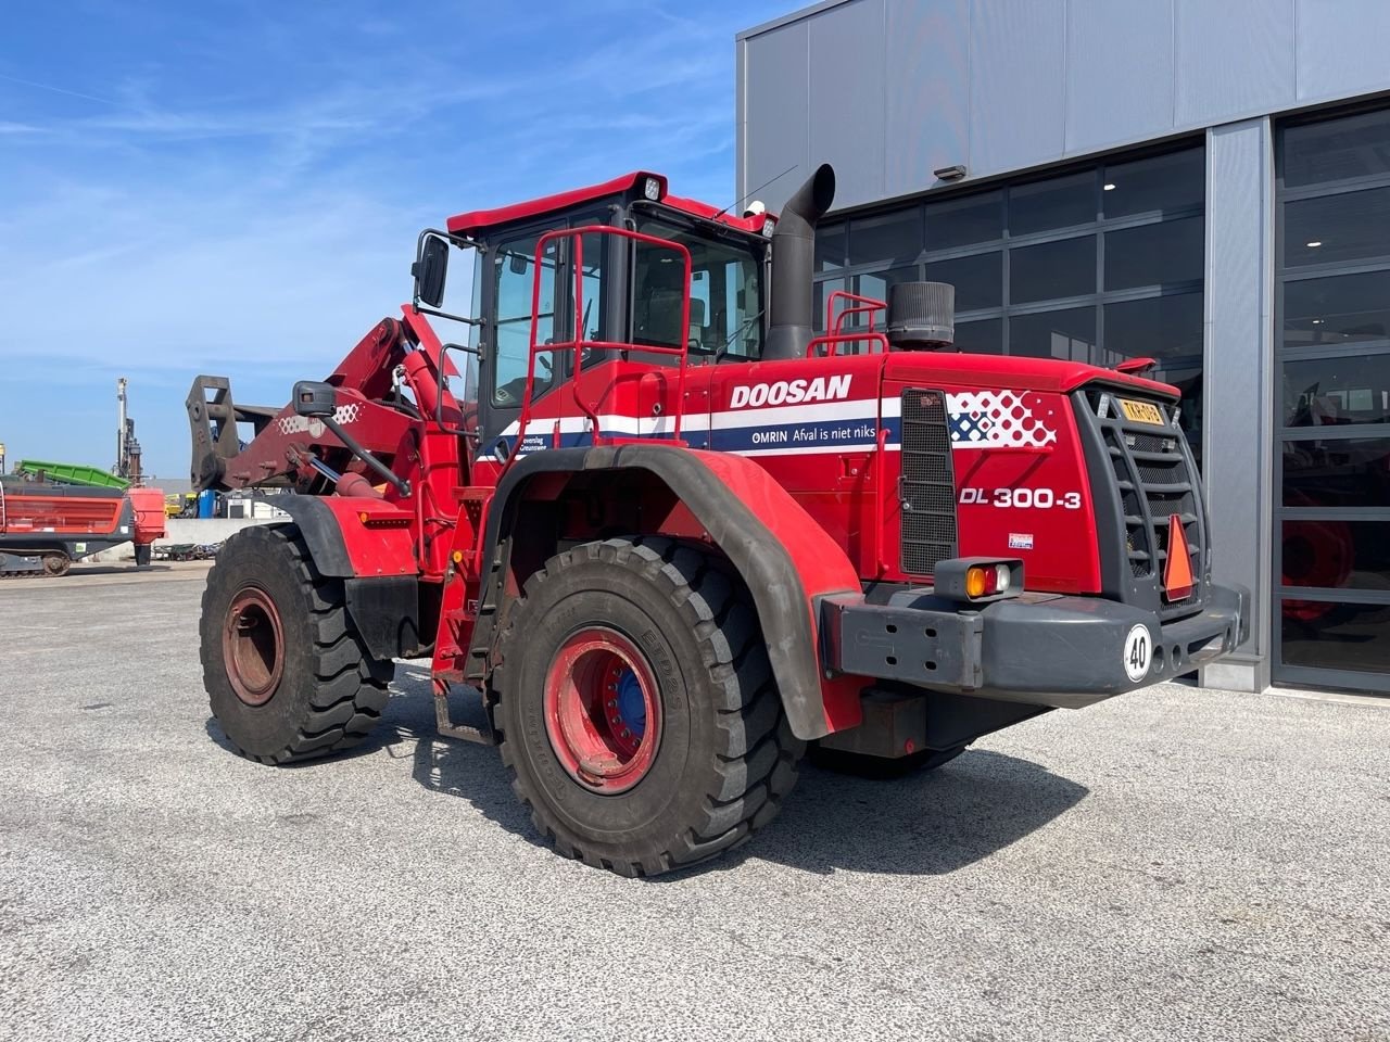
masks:
<svg viewBox="0 0 1390 1042"><path fill-rule="evenodd" d="M1177 0L1176 28L1179 125L1294 103L1294 0Z"/></svg>

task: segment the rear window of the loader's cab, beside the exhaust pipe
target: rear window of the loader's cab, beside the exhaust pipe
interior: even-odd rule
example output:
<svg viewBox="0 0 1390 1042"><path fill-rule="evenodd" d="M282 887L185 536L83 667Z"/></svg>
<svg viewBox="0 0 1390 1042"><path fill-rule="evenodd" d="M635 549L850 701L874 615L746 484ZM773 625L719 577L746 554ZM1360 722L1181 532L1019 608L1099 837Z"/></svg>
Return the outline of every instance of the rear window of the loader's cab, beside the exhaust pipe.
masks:
<svg viewBox="0 0 1390 1042"><path fill-rule="evenodd" d="M709 238L656 218L638 231L681 243L691 253L691 318L681 322L680 260L671 250L637 246L632 278L632 343L688 346L691 354L755 360L763 353L763 264L760 251Z"/></svg>

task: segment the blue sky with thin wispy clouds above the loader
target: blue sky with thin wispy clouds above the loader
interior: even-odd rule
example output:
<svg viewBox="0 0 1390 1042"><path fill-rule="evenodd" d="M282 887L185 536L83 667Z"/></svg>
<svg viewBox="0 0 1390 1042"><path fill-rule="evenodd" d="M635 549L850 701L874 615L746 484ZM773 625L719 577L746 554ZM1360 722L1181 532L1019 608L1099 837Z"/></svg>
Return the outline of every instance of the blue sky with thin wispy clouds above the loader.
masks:
<svg viewBox="0 0 1390 1042"><path fill-rule="evenodd" d="M279 404L409 297L420 228L646 167L734 192L734 35L794 0L10 4L0 442L188 472L197 372Z"/></svg>

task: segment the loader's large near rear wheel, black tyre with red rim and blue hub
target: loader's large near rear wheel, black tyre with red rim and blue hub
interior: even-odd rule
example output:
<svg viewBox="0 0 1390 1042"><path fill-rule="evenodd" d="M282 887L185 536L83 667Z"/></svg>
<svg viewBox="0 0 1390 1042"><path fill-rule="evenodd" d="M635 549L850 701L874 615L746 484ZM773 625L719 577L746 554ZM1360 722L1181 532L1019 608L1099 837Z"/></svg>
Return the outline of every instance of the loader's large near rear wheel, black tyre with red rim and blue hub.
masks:
<svg viewBox="0 0 1390 1042"><path fill-rule="evenodd" d="M805 743L723 559L653 538L567 550L527 581L496 652L512 788L569 857L620 875L703 861L796 781Z"/></svg>

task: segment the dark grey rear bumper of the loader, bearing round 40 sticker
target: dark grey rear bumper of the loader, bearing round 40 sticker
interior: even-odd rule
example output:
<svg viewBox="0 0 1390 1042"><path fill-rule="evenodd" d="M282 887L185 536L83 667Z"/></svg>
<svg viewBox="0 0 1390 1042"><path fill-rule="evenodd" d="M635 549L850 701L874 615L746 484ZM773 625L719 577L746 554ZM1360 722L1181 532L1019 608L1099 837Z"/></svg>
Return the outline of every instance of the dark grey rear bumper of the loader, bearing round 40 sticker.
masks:
<svg viewBox="0 0 1390 1042"><path fill-rule="evenodd" d="M1126 654L1136 627L1147 668ZM1233 652L1250 632L1250 592L1209 586L1207 606L1162 622L1099 597L1026 593L979 610L931 595L887 604L827 597L827 665L847 674L1037 706L1076 709L1190 672Z"/></svg>

